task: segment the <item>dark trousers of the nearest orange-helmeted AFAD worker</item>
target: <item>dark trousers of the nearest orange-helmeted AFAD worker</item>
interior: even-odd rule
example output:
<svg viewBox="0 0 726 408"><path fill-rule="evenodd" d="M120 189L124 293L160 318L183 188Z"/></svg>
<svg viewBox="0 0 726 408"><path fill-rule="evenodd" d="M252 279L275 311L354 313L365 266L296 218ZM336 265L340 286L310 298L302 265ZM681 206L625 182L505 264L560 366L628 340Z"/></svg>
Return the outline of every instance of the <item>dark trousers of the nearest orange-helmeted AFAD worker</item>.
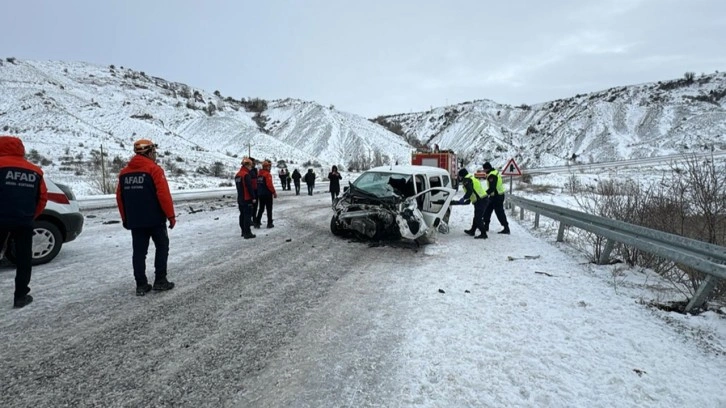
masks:
<svg viewBox="0 0 726 408"><path fill-rule="evenodd" d="M146 254L149 252L149 238L154 241L154 274L156 282L166 281L166 262L169 259L169 234L166 224L150 228L134 228L131 230L131 242L134 248L132 264L136 286L149 283L146 278Z"/></svg>

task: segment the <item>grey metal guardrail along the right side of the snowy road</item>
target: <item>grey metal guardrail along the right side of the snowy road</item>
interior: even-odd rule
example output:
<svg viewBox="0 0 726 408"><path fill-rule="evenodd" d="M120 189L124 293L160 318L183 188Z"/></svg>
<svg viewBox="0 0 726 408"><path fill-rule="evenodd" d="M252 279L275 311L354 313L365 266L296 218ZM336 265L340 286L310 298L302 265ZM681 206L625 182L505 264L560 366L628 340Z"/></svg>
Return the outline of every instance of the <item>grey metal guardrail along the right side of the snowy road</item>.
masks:
<svg viewBox="0 0 726 408"><path fill-rule="evenodd" d="M686 312L703 305L717 280L726 279L726 247L517 196L510 195L508 201L513 204L512 213L516 214L515 206L520 208L520 219L524 219L525 209L534 212L535 228L540 214L559 221L558 242L564 240L567 225L606 238L598 260L601 265L608 262L615 243L620 242L703 272L706 279L686 305Z"/></svg>

